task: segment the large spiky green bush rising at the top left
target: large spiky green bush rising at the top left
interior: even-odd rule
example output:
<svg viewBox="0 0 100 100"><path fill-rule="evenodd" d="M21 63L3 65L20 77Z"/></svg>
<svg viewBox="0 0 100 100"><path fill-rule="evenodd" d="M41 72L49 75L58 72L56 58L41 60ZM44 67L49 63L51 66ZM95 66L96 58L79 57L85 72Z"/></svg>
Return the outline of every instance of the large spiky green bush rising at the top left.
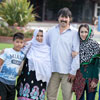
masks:
<svg viewBox="0 0 100 100"><path fill-rule="evenodd" d="M11 26L25 26L28 22L35 20L33 5L27 0L6 0L0 4L0 16Z"/></svg>

